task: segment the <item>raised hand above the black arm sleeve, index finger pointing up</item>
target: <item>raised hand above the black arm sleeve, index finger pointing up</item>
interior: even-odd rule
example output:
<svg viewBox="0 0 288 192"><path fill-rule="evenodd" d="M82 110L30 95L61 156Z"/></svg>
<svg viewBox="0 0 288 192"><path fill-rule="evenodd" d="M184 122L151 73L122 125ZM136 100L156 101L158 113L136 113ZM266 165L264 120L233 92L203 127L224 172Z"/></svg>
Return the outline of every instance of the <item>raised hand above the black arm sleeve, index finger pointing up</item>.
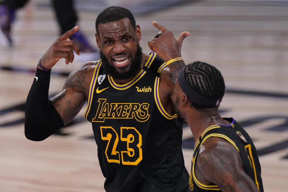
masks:
<svg viewBox="0 0 288 192"><path fill-rule="evenodd" d="M70 41L69 37L78 31L79 27L75 26L73 29L64 33L61 37L56 39L49 47L46 53L41 58L41 65L46 69L51 69L59 59L65 58L65 63L72 63L74 59L73 50L77 55L80 55L79 47Z"/></svg>

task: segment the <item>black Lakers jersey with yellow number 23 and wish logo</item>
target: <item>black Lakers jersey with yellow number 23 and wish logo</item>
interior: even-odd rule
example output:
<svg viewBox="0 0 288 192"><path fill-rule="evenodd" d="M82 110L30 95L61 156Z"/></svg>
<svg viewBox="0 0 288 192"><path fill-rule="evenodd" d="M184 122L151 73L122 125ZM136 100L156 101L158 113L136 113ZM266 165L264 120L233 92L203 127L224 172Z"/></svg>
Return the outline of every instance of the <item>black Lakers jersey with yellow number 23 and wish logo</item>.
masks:
<svg viewBox="0 0 288 192"><path fill-rule="evenodd" d="M101 61L95 67L84 118L92 123L104 188L109 192L188 189L182 127L159 100L166 63L154 53L137 76L119 85Z"/></svg>

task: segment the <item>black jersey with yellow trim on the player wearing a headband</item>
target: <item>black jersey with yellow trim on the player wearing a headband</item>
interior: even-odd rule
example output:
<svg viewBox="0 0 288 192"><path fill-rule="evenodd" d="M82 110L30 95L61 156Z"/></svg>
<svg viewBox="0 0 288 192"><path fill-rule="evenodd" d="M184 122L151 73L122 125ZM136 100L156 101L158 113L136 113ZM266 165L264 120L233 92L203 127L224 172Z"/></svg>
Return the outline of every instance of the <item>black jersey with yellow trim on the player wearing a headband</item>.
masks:
<svg viewBox="0 0 288 192"><path fill-rule="evenodd" d="M231 143L239 152L243 170L256 183L258 190L263 191L263 184L261 178L261 167L257 155L256 148L247 134L247 132L233 119L223 118L229 122L230 125L212 125L208 127L195 143L194 154L192 158L192 167L189 178L189 185L191 191L221 191L217 185L205 185L200 183L195 176L195 162L199 147L203 142L210 137L221 137Z"/></svg>

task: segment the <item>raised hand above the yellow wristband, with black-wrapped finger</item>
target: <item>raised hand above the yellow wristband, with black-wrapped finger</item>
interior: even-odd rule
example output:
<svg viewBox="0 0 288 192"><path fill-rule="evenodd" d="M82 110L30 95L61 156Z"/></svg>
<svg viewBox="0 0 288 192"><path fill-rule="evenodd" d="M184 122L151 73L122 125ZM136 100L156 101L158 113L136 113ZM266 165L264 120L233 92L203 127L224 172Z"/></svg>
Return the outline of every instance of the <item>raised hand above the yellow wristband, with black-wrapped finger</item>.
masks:
<svg viewBox="0 0 288 192"><path fill-rule="evenodd" d="M158 38L154 38L148 42L151 51L156 52L164 61L181 57L181 46L184 38L190 35L189 32L182 32L177 39L175 39L172 32L168 31L164 26L158 22L153 21L153 26L161 30Z"/></svg>

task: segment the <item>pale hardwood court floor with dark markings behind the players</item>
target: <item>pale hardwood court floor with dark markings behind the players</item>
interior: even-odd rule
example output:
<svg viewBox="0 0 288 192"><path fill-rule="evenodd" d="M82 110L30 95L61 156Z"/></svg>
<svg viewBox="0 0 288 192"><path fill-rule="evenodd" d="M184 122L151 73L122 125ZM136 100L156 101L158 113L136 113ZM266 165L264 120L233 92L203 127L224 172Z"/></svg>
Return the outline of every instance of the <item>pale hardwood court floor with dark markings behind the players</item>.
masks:
<svg viewBox="0 0 288 192"><path fill-rule="evenodd" d="M96 46L95 19L101 9L85 8L94 2L97 7L131 1L103 1L104 5L77 1L79 29ZM0 45L0 191L104 191L91 124L82 118L86 106L69 126L44 141L24 136L23 110L34 70L58 38L58 24L47 5L49 0L31 0L19 10L14 46ZM287 1L186 1L173 7L160 4L157 11L146 14L135 11L143 52L150 52L147 42L158 32L152 26L155 20L175 36L191 33L182 46L186 63L205 61L221 71L227 90L221 115L234 117L252 137L265 191L288 188L287 9ZM50 96L61 91L66 74L81 63L75 60L67 66L60 60L53 67ZM190 170L192 134L187 127L183 133L185 165Z"/></svg>

